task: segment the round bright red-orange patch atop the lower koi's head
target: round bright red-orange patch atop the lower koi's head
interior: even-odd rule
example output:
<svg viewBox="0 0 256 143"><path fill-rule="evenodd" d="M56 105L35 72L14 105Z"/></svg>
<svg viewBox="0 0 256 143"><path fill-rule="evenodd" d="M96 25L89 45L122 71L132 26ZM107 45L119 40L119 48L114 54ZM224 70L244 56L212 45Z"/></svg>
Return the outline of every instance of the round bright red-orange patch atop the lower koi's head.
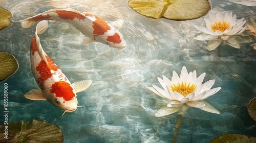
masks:
<svg viewBox="0 0 256 143"><path fill-rule="evenodd" d="M75 97L73 88L65 81L57 81L52 84L50 92L55 93L56 97L62 97L66 101L72 100Z"/></svg>

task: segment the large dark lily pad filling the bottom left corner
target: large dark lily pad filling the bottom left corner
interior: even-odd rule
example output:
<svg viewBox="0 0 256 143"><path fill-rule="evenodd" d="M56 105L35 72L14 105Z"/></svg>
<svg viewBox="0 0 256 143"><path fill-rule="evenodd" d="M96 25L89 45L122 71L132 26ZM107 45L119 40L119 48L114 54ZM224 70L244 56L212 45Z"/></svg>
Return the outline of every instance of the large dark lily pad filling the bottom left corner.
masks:
<svg viewBox="0 0 256 143"><path fill-rule="evenodd" d="M49 122L30 120L11 122L0 126L0 142L63 142L64 136L57 125ZM6 132L5 130L8 130ZM8 133L8 134L6 134ZM8 139L5 136L8 135ZM7 142L8 142L7 141Z"/></svg>

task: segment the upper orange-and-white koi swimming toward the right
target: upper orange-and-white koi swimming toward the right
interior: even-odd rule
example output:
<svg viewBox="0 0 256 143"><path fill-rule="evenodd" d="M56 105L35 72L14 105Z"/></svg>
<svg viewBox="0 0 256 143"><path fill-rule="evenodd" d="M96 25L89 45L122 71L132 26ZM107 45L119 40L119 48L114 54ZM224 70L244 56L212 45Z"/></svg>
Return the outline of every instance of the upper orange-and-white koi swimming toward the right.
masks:
<svg viewBox="0 0 256 143"><path fill-rule="evenodd" d="M89 37L89 39L85 39L82 42L83 44L98 41L116 49L123 49L126 46L122 34L118 31L121 28L120 26L116 25L116 29L96 15L80 13L74 9L51 9L18 22L22 22L23 28L29 28L36 21L41 20L50 20L50 22L64 21L70 23L83 35Z"/></svg>

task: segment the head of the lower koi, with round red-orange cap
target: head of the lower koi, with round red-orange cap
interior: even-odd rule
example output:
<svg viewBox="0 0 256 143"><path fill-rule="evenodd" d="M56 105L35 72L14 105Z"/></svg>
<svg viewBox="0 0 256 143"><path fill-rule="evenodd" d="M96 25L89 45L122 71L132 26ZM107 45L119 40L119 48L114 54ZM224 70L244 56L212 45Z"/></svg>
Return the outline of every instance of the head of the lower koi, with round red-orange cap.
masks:
<svg viewBox="0 0 256 143"><path fill-rule="evenodd" d="M55 82L46 93L47 100L54 106L73 112L77 109L77 95L72 84L65 81Z"/></svg>

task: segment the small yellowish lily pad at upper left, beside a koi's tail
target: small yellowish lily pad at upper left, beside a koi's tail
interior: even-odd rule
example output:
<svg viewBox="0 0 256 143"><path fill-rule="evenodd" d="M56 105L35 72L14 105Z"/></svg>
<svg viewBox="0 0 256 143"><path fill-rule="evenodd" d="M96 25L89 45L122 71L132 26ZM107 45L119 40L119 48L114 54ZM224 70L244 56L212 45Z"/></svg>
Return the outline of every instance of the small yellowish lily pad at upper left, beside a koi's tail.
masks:
<svg viewBox="0 0 256 143"><path fill-rule="evenodd" d="M10 11L4 8L0 8L0 30L5 29L11 25L11 17L12 13Z"/></svg>

